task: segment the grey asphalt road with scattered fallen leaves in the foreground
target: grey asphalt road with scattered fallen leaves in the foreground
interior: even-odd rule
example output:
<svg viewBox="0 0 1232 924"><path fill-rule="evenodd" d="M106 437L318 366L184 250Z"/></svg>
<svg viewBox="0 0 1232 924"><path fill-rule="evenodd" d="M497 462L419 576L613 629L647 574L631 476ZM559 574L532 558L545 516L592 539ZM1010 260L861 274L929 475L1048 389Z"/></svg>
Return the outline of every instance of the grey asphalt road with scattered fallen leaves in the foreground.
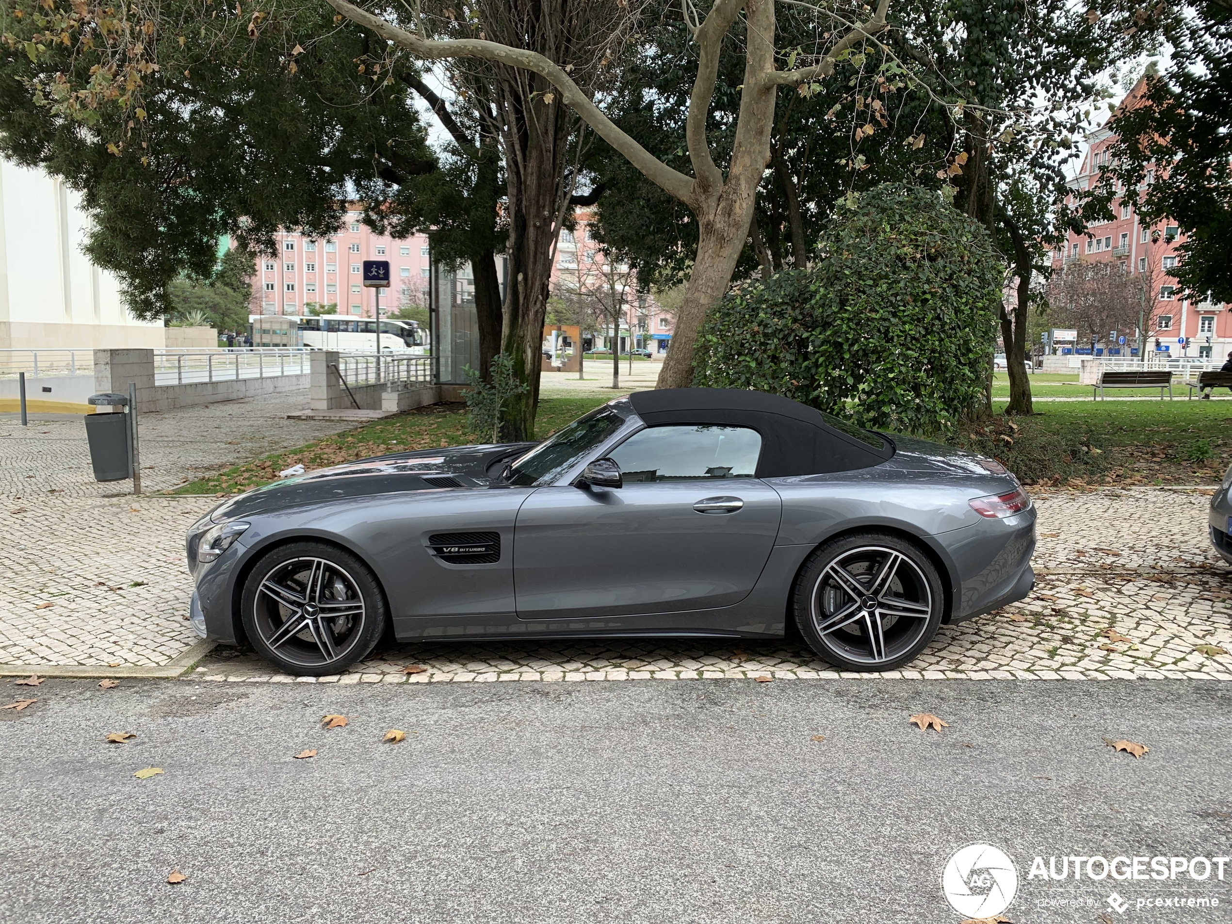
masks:
<svg viewBox="0 0 1232 924"><path fill-rule="evenodd" d="M6 923L958 922L940 873L971 841L1013 857L1016 924L1232 919L1232 869L1027 878L1232 853L1227 684L5 687L38 699L0 710ZM1167 896L1220 906L1136 904Z"/></svg>

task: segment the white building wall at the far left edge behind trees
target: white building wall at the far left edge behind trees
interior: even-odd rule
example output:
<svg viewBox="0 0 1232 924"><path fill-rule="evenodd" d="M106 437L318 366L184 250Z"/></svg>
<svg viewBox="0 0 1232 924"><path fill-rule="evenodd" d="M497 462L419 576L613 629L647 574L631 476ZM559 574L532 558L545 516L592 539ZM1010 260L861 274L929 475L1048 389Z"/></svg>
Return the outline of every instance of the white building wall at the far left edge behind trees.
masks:
<svg viewBox="0 0 1232 924"><path fill-rule="evenodd" d="M81 253L87 217L60 180L0 160L0 349L163 346L115 276Z"/></svg>

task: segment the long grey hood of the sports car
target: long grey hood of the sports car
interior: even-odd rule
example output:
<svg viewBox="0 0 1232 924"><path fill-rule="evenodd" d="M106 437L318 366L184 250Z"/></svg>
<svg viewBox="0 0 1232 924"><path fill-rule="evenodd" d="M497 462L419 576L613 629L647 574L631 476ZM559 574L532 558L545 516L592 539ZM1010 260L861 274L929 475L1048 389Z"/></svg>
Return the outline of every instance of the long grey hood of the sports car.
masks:
<svg viewBox="0 0 1232 924"><path fill-rule="evenodd" d="M495 462L514 460L536 445L510 442L452 446L362 458L254 488L216 506L209 513L209 519L223 522L240 516L392 492L483 490L493 485L488 469Z"/></svg>

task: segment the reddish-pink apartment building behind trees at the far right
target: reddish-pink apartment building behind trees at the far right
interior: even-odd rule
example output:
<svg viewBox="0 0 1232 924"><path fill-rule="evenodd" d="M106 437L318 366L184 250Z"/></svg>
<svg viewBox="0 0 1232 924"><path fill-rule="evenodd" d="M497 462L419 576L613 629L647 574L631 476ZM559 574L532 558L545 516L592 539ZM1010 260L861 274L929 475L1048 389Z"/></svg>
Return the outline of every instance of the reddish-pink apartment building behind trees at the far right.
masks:
<svg viewBox="0 0 1232 924"><path fill-rule="evenodd" d="M1121 105L1132 106L1142 86L1140 81ZM1083 159L1082 170L1069 184L1074 190L1088 190L1100 181L1116 136L1105 126L1092 132L1087 140L1090 149ZM1147 182L1151 182L1153 172L1147 174ZM1142 223L1135 206L1136 198L1126 196L1114 203L1111 222L1092 225L1089 234L1071 233L1066 244L1052 254L1053 269L1077 260L1116 260L1131 274L1153 276L1146 306L1147 352L1156 352L1158 341L1158 352L1169 356L1222 362L1232 351L1232 313L1225 304L1179 296L1179 286L1169 270L1177 266L1177 246L1184 235L1172 222ZM1179 338L1185 339L1184 346ZM1126 340L1122 356L1130 355L1130 340L1132 338Z"/></svg>

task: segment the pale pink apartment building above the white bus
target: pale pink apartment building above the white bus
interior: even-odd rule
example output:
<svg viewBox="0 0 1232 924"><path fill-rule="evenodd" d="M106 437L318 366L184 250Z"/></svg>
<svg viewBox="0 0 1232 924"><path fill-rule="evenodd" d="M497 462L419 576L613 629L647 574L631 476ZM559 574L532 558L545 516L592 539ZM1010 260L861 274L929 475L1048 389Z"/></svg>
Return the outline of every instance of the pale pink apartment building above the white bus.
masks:
<svg viewBox="0 0 1232 924"><path fill-rule="evenodd" d="M426 304L429 278L428 237L405 239L373 233L361 212L350 211L342 229L329 238L280 232L277 256L256 261L253 282L254 314L304 314L315 302L325 314L373 317L376 290L361 285L365 260L388 260L393 282L381 292L381 314L408 302Z"/></svg>

